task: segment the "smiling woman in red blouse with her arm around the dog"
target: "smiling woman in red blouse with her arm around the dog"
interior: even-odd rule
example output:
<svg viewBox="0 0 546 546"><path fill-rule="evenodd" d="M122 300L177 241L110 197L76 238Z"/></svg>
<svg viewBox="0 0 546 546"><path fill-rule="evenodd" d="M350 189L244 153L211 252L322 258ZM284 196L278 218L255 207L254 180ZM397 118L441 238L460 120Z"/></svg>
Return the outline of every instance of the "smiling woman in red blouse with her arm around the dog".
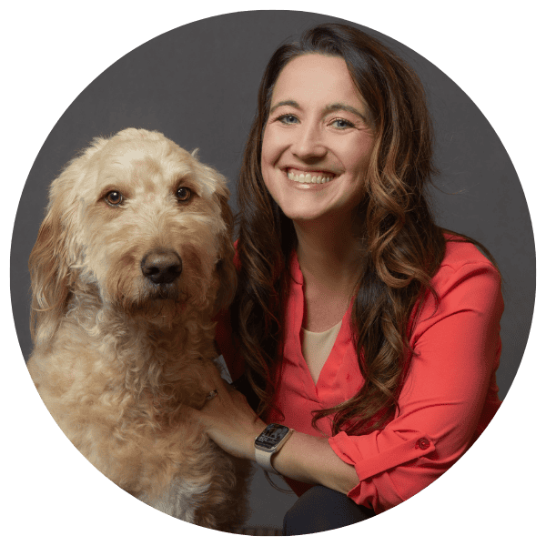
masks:
<svg viewBox="0 0 546 546"><path fill-rule="evenodd" d="M434 224L431 155L419 78L369 35L319 25L272 56L239 178L238 293L217 335L258 415L212 371L196 414L300 495L285 534L410 498L501 404L501 277ZM273 455L255 446L268 423L294 430Z"/></svg>

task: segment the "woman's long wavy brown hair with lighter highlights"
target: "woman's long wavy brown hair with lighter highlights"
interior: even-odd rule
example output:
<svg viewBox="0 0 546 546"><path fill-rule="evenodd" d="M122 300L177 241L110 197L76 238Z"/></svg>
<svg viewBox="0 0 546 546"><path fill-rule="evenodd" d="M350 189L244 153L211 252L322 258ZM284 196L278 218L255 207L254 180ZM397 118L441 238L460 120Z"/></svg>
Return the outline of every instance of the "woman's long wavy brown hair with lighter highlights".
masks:
<svg viewBox="0 0 546 546"><path fill-rule="evenodd" d="M275 370L282 361L289 258L297 239L264 184L263 132L281 70L310 53L342 57L369 111L375 136L365 192L357 209L363 261L351 317L359 392L335 408L317 411L313 423L333 415L332 433L366 433L394 416L410 363L410 318L445 254L444 231L434 222L427 187L432 126L415 72L388 47L349 25L319 25L298 43L281 45L269 60L258 91L258 111L238 180L238 292L232 324L250 384L271 404ZM472 240L452 234L457 240ZM472 241L474 242L474 241ZM413 312L413 315L412 315Z"/></svg>

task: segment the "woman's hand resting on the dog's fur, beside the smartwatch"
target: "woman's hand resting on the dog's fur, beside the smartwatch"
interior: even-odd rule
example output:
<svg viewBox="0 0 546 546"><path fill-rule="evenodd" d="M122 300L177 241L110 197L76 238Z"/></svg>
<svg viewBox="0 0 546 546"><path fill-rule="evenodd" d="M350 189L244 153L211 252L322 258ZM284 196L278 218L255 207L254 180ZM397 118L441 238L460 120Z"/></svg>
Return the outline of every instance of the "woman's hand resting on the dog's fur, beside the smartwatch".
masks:
<svg viewBox="0 0 546 546"><path fill-rule="evenodd" d="M222 450L254 460L254 440L266 423L250 408L245 396L221 378L215 366L207 367L203 380L207 390L216 390L217 396L207 399L201 410L191 410L193 419Z"/></svg>

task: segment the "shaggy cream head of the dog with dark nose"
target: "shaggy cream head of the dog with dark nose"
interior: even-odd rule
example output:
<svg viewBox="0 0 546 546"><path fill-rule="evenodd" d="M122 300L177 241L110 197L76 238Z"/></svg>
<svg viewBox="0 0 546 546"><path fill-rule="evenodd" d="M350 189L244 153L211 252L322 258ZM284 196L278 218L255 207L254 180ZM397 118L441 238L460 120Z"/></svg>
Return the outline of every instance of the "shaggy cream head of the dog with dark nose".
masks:
<svg viewBox="0 0 546 546"><path fill-rule="evenodd" d="M227 183L160 133L97 138L50 188L30 260L31 328L47 342L73 295L172 323L235 288Z"/></svg>

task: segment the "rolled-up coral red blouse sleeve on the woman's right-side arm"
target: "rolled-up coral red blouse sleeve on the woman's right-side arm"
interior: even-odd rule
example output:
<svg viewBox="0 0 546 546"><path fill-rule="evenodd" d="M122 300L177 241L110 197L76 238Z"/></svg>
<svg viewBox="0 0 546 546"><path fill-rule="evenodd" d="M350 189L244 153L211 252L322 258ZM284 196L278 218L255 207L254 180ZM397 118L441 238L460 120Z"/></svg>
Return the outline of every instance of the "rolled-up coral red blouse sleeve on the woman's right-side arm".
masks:
<svg viewBox="0 0 546 546"><path fill-rule="evenodd" d="M410 339L414 356L399 412L384 430L329 439L353 465L359 485L349 498L389 510L424 489L460 459L500 405L498 366L501 278L489 261L442 266ZM487 421L489 422L489 420ZM487 423L486 423L487 425Z"/></svg>

